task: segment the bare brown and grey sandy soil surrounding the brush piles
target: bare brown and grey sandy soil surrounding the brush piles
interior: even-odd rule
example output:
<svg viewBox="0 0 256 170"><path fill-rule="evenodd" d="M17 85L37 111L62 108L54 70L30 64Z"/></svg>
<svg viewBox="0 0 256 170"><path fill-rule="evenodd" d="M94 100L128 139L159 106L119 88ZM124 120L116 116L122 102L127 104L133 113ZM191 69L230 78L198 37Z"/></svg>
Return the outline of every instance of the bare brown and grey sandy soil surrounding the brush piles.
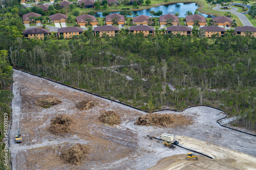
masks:
<svg viewBox="0 0 256 170"><path fill-rule="evenodd" d="M253 163L253 157L256 156L256 138L219 126L216 120L224 114L217 109L194 107L183 112L158 112L182 114L193 120L192 123L179 127L136 126L135 120L138 116L146 114L145 112L25 74L22 71L14 70L13 79L14 99L10 131L10 138L13 138L10 140L13 169L18 169L18 167L23 167L23 169L147 169L166 157L184 159L180 155L186 154L187 150L168 149L161 141L150 140L146 136L159 137L161 133L175 134L184 146L195 150L201 150L210 143L217 145L217 148L210 147L209 150L204 151L207 155L208 153L214 154L218 147L223 147L225 151L230 150L232 154L238 152L247 154L248 157L245 157L243 162ZM56 96L62 102L49 109L34 104L39 98L47 96ZM81 111L75 105L82 99L95 101L97 105L92 109ZM120 125L111 127L99 122L99 114L108 110L119 114L122 119ZM55 136L47 131L50 120L58 113L65 113L74 119L71 133ZM14 142L18 127L23 135L23 143ZM190 139L195 140L192 142L194 145L187 145L191 143ZM79 165L67 164L59 158L61 149L74 143L86 143L91 147L91 153ZM227 156L222 155L221 159L214 161L201 156L203 158L200 157L199 162L205 162L195 166L203 168L207 161L211 161L214 162L212 167L217 167L217 165L232 166L233 169L250 167L246 163L239 166L230 164L230 157L225 158ZM181 169L182 167L186 169L187 163L181 162L180 164ZM172 162L166 165L166 168L171 165Z"/></svg>

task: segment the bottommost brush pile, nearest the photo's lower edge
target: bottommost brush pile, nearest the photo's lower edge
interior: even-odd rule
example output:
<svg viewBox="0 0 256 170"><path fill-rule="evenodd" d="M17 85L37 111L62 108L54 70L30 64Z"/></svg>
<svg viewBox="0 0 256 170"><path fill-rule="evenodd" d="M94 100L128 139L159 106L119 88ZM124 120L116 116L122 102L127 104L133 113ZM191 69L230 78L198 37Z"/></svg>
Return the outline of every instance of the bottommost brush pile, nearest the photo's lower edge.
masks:
<svg viewBox="0 0 256 170"><path fill-rule="evenodd" d="M86 144L76 144L70 148L64 149L60 153L60 157L68 163L78 164L90 152L90 148Z"/></svg>

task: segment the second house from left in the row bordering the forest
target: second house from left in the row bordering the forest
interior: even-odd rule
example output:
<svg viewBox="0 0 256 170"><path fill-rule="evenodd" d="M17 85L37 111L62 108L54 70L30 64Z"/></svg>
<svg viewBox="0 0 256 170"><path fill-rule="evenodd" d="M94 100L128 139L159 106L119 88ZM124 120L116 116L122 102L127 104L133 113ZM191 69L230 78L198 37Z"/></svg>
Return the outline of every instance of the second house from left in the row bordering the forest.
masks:
<svg viewBox="0 0 256 170"><path fill-rule="evenodd" d="M63 35L64 38L72 38L74 35L82 35L83 30L79 27L63 27L58 29L58 36Z"/></svg>

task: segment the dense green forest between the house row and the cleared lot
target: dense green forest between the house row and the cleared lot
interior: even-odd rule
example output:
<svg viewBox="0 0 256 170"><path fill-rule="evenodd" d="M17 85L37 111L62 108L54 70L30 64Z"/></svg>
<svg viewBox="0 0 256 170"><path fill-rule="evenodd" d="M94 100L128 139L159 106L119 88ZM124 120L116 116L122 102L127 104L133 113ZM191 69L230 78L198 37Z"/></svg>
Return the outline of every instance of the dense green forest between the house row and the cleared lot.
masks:
<svg viewBox="0 0 256 170"><path fill-rule="evenodd" d="M2 9L0 49L13 67L153 111L208 105L256 129L256 39L234 36L22 38L19 8ZM113 67L115 66L115 67Z"/></svg>

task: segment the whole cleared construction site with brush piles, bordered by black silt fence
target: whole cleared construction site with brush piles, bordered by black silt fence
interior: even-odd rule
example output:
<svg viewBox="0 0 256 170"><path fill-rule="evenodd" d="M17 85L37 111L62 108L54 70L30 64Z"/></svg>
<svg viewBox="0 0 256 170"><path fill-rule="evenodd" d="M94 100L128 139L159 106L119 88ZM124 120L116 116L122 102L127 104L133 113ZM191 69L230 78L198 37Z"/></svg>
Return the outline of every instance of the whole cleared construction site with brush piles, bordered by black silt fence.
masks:
<svg viewBox="0 0 256 170"><path fill-rule="evenodd" d="M18 70L13 80L12 169L256 169L256 137L220 126L218 109L146 113ZM60 102L38 105L47 98ZM214 159L187 160L190 151L148 137L163 133Z"/></svg>

